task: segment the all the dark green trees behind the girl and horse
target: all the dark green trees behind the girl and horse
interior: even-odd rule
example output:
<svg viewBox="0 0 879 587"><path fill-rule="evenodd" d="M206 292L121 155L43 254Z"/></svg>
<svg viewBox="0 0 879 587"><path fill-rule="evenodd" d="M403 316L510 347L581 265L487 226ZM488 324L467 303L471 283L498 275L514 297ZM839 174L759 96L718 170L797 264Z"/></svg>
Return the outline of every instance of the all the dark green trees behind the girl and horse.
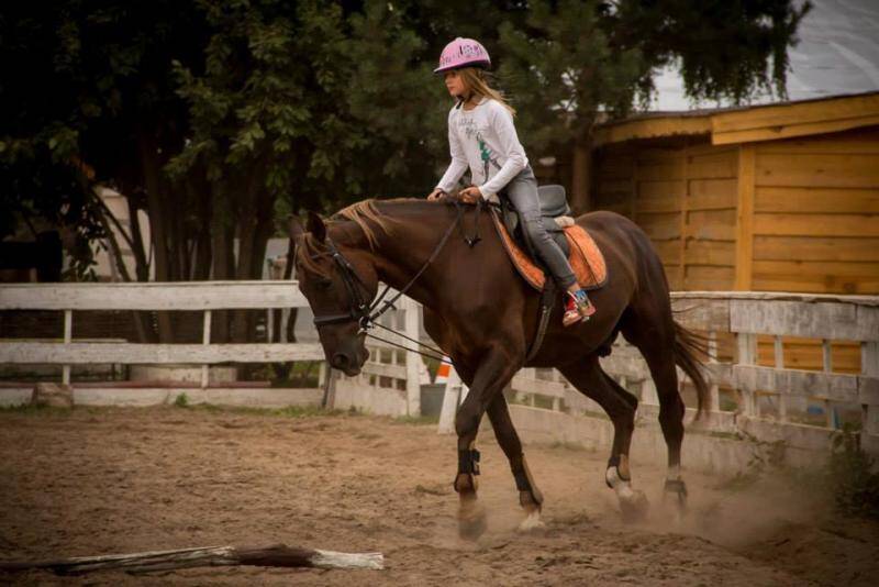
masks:
<svg viewBox="0 0 879 587"><path fill-rule="evenodd" d="M136 223L124 235L137 262L125 278L258 278L279 215L434 185L450 99L431 70L455 36L488 46L532 155L588 153L597 118L643 103L668 64L694 98L783 93L805 10L510 0L474 18L463 0L12 2L0 13L0 198L16 213L0 237L13 218L41 217L80 245L110 236L100 184L149 217L151 242Z"/></svg>

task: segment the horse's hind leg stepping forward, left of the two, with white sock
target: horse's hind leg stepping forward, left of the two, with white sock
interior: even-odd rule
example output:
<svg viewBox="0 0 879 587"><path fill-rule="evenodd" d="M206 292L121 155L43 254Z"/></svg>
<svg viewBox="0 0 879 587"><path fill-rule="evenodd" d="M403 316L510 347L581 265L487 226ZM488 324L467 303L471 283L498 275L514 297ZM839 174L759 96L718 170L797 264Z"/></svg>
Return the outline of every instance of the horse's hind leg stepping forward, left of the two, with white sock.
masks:
<svg viewBox="0 0 879 587"><path fill-rule="evenodd" d="M628 469L628 448L635 430L635 409L638 400L611 379L598 362L590 355L585 362L567 365L559 369L580 392L596 400L613 422L613 445L604 479L620 500L623 516L638 518L646 512L647 499L642 491L632 488Z"/></svg>

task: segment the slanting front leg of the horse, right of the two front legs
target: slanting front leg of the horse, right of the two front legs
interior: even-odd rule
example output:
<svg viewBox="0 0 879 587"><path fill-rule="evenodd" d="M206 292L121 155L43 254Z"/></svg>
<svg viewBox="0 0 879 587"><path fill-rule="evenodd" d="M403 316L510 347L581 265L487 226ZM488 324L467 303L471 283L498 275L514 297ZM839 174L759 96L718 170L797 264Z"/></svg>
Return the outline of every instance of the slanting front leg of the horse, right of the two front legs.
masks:
<svg viewBox="0 0 879 587"><path fill-rule="evenodd" d="M503 394L498 394L488 406L488 418L491 420L491 428L498 439L503 454L510 461L510 469L513 472L515 487L519 489L519 503L527 513L525 520L520 524L520 530L534 530L543 528L541 521L541 506L543 495L537 489L537 485L531 476L525 455L522 452L522 442L519 440L513 421L510 418L510 409L507 406L507 398Z"/></svg>

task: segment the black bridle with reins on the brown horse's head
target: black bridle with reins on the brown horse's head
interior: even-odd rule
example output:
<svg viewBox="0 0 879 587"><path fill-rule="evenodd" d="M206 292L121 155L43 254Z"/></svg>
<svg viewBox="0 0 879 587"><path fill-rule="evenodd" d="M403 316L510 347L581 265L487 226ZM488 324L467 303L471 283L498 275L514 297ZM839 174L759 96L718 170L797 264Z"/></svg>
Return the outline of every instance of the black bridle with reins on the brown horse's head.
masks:
<svg viewBox="0 0 879 587"><path fill-rule="evenodd" d="M392 329L389 329L389 328L387 328L387 326L385 326L382 324L379 324L378 322L376 322L376 320L378 320L378 318L381 314L383 314L385 312L387 312L388 310L390 310L391 308L394 307L393 303L398 299L400 299L403 295L405 295L407 291L409 291L409 289L414 285L414 283L419 279L419 277L421 277L421 275L427 269L427 267L431 265L431 263L433 263L436 259L436 257L439 255L439 252L443 250L443 247L448 242L448 239L449 239L449 236L452 236L452 233L455 231L455 228L458 226L461 223L461 219L464 218L464 207L461 207L460 203L457 202L457 201L455 202L455 207L457 208L457 213L455 214L455 220L452 221L452 224L448 225L448 228L446 229L446 232L443 234L443 237L439 240L439 242L434 247L433 253L431 253L431 256L427 258L427 261L425 261L424 264L421 266L421 268L418 270L418 273L415 273L415 276L412 277L412 279L410 279L409 283L405 286L403 286L403 288L400 289L389 300L385 300L385 297L388 295L388 292L390 291L391 287L386 285L385 289L375 299L375 301L372 301L371 304L367 301L367 298L364 296L365 292L369 291L369 288L364 283L364 280L360 278L360 276L357 275L357 272L355 270L354 265L352 265L351 262L347 258L345 258L345 255L343 255L342 252L336 247L335 243L333 243L333 241L331 241L330 237L326 237L325 243L326 243L327 248L329 248L329 253L327 254L333 259L333 263L335 264L336 270L338 272L338 275L342 277L342 283L345 285L345 290L348 294L348 309L347 309L347 312L335 313L335 314L325 314L325 315L315 315L314 317L314 325L318 329L320 329L322 326L326 326L326 325L330 325L330 324L343 324L345 322L356 322L357 325L359 326L359 330L357 331L357 334L366 334L367 336L370 336L372 339L377 339L379 341L383 341L383 342L387 342L387 343L390 343L390 344L394 344L396 346L401 346L401 345L396 344L396 343L393 343L391 341L387 341L385 339L379 339L378 336L375 336L375 335L368 333L369 329L371 329L374 326L378 326L378 328L394 332L399 336L402 336L403 339L412 341L412 342L414 342L414 343L416 343L416 344L419 344L421 346L427 346L427 345L422 344L420 341L416 341L414 339L410 339L409 336L407 336L404 334L401 334L399 332L393 331ZM478 233L477 233L477 240L478 240ZM472 242L472 244L476 244L475 240L467 239L466 235L465 235L465 241L467 241L468 243ZM472 244L470 246L472 246ZM381 308L379 308L379 306L381 306ZM403 347L403 348L405 348L405 347ZM439 355L443 355L443 352L441 350L438 350L438 348L433 348L433 347L430 347L430 346L427 346L427 348L431 348L432 351L438 353ZM408 351L413 351L413 352L420 353L420 354L425 354L425 353L421 353L420 351L414 351L412 348L407 348L407 350ZM431 356L431 355L427 355L427 356ZM434 358L441 358L442 359L442 356L434 357Z"/></svg>

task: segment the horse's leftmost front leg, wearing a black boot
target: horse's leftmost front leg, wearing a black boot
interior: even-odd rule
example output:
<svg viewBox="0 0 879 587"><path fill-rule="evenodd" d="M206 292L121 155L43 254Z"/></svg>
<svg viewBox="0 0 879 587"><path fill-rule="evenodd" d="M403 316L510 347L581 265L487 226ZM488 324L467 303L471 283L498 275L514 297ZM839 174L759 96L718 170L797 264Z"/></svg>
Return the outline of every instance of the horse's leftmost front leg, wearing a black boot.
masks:
<svg viewBox="0 0 879 587"><path fill-rule="evenodd" d="M479 451L476 435L488 406L513 378L521 357L502 347L492 348L479 363L469 384L467 399L455 414L455 431L458 434L458 474L455 490L458 492L458 531L461 538L475 539L486 530L485 508L477 501L477 475L479 475ZM467 377L466 369L463 378Z"/></svg>

